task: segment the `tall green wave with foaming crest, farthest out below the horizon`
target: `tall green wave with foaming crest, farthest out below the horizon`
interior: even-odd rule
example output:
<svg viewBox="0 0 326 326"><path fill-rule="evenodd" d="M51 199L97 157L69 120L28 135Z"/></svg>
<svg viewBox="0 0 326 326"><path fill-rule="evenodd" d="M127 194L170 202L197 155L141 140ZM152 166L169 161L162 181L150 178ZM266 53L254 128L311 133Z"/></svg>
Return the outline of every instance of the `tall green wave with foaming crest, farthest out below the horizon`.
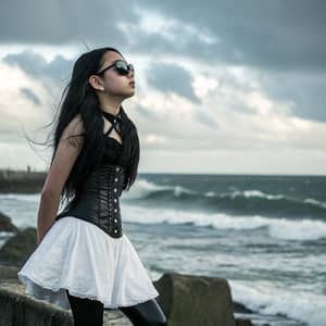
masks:
<svg viewBox="0 0 326 326"><path fill-rule="evenodd" d="M162 186L139 179L126 199L153 202L189 204L204 211L223 211L239 214L277 215L285 217L309 217L325 221L326 203L313 198L296 198L283 193L266 193L258 189L231 190L226 192L193 191L186 187Z"/></svg>

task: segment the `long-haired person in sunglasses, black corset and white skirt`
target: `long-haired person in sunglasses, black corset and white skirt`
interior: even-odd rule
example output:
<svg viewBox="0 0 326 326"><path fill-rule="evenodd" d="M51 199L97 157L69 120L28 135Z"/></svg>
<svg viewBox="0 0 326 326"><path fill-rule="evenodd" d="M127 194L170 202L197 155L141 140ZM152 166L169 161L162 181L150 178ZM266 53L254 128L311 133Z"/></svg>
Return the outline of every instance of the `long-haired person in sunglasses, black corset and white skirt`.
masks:
<svg viewBox="0 0 326 326"><path fill-rule="evenodd" d="M17 274L27 293L71 309L75 326L102 325L104 308L121 309L134 325L166 325L121 220L120 197L139 163L137 128L122 106L135 93L134 74L114 48L76 61L41 191L38 246Z"/></svg>

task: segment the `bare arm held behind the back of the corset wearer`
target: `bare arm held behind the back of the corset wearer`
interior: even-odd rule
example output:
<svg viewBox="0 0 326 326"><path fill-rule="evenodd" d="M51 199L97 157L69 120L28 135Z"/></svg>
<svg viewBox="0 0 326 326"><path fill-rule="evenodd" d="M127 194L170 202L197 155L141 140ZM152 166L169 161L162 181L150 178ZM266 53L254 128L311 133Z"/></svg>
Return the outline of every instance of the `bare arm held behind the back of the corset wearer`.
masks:
<svg viewBox="0 0 326 326"><path fill-rule="evenodd" d="M83 148L83 136L73 137L71 139L68 139L68 137L82 133L84 133L84 124L78 114L62 133L53 162L41 191L37 217L37 243L41 241L54 222L64 183Z"/></svg>

